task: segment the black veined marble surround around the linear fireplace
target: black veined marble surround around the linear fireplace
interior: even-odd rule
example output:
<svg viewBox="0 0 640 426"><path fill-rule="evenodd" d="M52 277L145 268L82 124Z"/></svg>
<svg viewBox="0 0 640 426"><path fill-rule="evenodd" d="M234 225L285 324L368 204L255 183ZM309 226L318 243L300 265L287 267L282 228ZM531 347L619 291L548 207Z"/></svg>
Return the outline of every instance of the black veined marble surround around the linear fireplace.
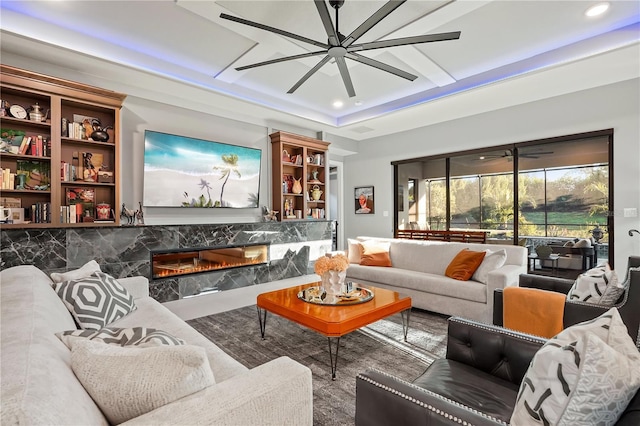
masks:
<svg viewBox="0 0 640 426"><path fill-rule="evenodd" d="M269 243L269 263L150 281L151 296L168 302L313 273L331 251L331 221L203 225L27 228L0 231L0 269L31 264L49 274L95 259L116 278L150 277L150 251Z"/></svg>

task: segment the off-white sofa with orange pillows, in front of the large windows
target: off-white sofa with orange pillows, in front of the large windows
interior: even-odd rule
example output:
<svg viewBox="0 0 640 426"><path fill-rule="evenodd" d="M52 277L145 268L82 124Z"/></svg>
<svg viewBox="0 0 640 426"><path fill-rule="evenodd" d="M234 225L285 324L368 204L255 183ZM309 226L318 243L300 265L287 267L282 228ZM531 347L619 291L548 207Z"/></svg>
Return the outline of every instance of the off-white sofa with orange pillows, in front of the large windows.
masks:
<svg viewBox="0 0 640 426"><path fill-rule="evenodd" d="M493 320L493 291L517 286L519 275L527 272L527 250L520 246L372 237L358 237L358 240L388 243L392 266L350 263L347 280L406 294L416 308L485 323ZM486 283L446 277L447 266L465 248L473 251L505 250L505 264L489 272Z"/></svg>

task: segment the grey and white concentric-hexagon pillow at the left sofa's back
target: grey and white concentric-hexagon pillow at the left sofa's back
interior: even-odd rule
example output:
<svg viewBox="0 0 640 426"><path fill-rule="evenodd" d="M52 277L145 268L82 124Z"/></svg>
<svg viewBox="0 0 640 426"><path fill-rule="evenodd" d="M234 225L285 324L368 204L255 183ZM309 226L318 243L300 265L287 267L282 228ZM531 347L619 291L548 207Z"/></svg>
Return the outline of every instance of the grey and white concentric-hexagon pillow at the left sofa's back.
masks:
<svg viewBox="0 0 640 426"><path fill-rule="evenodd" d="M55 283L53 289L81 329L100 330L136 309L133 296L104 272Z"/></svg>

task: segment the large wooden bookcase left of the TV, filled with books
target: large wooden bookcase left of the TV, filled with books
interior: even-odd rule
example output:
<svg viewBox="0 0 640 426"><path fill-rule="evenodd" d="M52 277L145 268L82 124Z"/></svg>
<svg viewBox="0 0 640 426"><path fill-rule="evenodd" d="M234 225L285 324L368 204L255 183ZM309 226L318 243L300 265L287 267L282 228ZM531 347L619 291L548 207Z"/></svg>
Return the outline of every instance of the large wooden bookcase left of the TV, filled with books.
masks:
<svg viewBox="0 0 640 426"><path fill-rule="evenodd" d="M20 204L30 222L3 227L119 224L120 109L126 95L5 65L0 73L0 205ZM42 119L13 117L10 105L39 109ZM29 141L26 148L18 139Z"/></svg>

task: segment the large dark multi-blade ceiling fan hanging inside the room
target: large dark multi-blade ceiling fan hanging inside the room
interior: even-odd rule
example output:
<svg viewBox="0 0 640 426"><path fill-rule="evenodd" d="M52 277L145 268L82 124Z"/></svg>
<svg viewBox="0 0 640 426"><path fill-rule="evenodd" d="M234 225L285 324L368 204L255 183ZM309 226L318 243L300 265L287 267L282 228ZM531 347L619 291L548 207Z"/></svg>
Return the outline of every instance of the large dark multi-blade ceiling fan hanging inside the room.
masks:
<svg viewBox="0 0 640 426"><path fill-rule="evenodd" d="M312 40L307 37L303 37L297 34L290 33L288 31L281 30L279 28L270 27L268 25L259 24L257 22L248 21L246 19L238 18L236 16L227 15L226 13L220 14L220 17L223 19L228 19L230 21L238 22L241 24L249 25L251 27L259 28L265 31L270 31L275 34L279 34L285 37L292 38L294 40L302 41L304 43L309 43L314 46L322 48L322 50L317 50L314 52L303 53L300 55L286 56L284 58L272 59L269 61L258 62L251 65L245 65L242 67L236 68L237 71L246 70L249 68L261 67L263 65L276 64L279 62L291 61L294 59L302 59L308 58L312 56L325 55L324 58L320 62L316 64L313 68L309 70L296 84L289 89L287 93L295 92L305 81L309 79L313 74L315 74L320 68L322 68L325 64L327 64L331 59L335 59L336 64L338 65L338 69L340 70L340 75L342 76L342 81L344 82L345 88L347 89L347 93L349 97L354 97L356 92L353 88L353 83L351 81L351 76L349 74L349 69L347 68L345 59L351 59L353 61L359 62L364 65L369 65L374 68L378 68L380 70L389 72L391 74L397 75L398 77L405 78L407 80L413 81L418 76L403 71L399 68L393 67L391 65L385 64L383 62L377 61L375 59L368 58L366 56L362 56L356 52L362 52L373 49L382 49L385 47L395 47L395 46L405 46L409 44L418 44L418 43L430 43L435 41L445 41L445 40L457 40L460 38L460 31L449 32L449 33L439 33L439 34L428 34L422 36L414 36L414 37L403 37L397 38L393 40L380 40L373 41L369 43L360 43L354 44L360 37L362 37L367 31L373 28L378 22L384 19L391 12L400 7L407 0L391 0L385 3L377 12L371 15L366 21L364 21L358 28L353 30L351 34L348 36L342 35L338 29L338 10L344 4L345 0L329 0L329 4L336 11L336 25L335 28L333 26L333 22L331 20L331 16L329 16L329 9L327 8L327 4L325 0L314 0L316 8L318 9L318 13L320 14L320 19L322 20L322 24L324 25L324 29L327 32L327 43L323 43L320 41Z"/></svg>

